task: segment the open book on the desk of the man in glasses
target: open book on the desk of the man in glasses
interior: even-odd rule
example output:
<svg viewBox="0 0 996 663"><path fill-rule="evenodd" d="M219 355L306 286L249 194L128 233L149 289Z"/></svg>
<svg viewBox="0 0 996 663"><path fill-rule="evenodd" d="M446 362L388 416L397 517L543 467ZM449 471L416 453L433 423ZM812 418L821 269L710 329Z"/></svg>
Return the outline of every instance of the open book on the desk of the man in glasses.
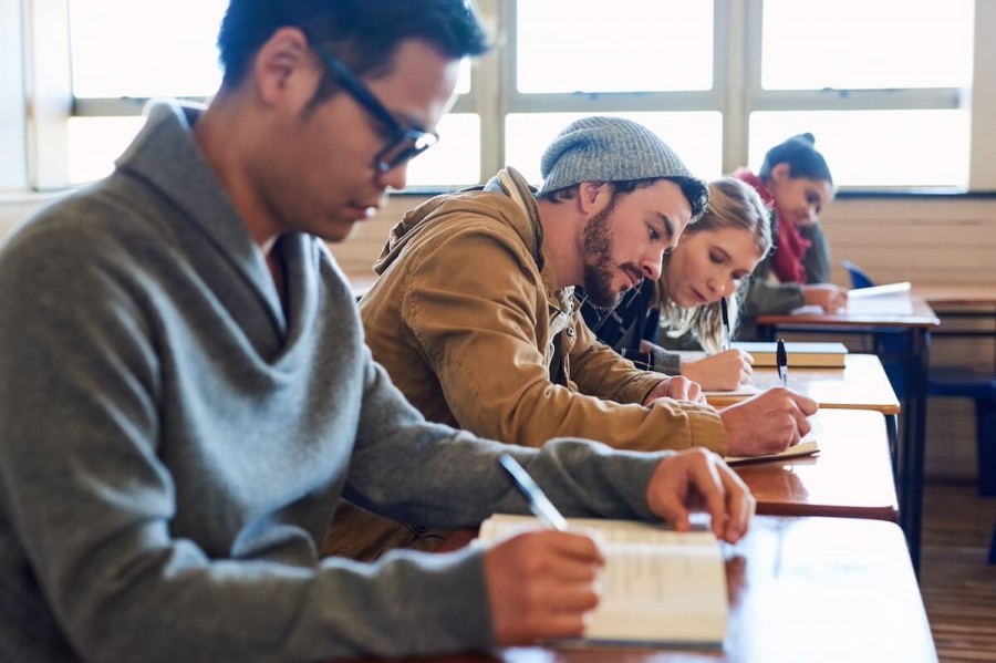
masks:
<svg viewBox="0 0 996 663"><path fill-rule="evenodd" d="M722 646L726 563L712 531L590 518L568 518L568 524L595 530L604 540L602 595L587 615L584 642ZM496 514L481 524L478 538L495 541L538 527L531 516Z"/></svg>

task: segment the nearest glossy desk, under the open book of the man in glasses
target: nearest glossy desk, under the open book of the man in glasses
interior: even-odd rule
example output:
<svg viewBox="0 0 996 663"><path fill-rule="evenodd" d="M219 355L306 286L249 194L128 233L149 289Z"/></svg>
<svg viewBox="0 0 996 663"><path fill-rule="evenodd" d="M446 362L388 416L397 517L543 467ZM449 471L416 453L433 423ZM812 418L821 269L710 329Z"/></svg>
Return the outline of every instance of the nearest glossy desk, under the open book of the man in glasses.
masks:
<svg viewBox="0 0 996 663"><path fill-rule="evenodd" d="M891 522L758 516L727 548L726 648L513 648L448 663L933 663L934 641L902 531ZM418 661L425 661L419 659ZM414 661L412 662L414 663Z"/></svg>

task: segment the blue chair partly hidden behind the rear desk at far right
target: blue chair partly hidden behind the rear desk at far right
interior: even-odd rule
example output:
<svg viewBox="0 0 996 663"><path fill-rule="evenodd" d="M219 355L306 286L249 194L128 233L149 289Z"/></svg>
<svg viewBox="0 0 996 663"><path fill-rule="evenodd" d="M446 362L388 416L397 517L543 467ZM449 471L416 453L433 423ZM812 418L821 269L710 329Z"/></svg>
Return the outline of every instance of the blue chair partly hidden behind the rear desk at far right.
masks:
<svg viewBox="0 0 996 663"><path fill-rule="evenodd" d="M841 261L851 278L852 288L871 288L874 281L857 265ZM899 354L903 336L895 332L876 332L876 353ZM890 365L883 360L895 393L903 396L905 375L902 365ZM996 374L962 367L932 367L926 387L927 396L969 398L975 402L975 442L978 450L978 493L996 496ZM994 533L996 536L996 533ZM996 539L994 539L996 545ZM992 555L990 555L992 557Z"/></svg>

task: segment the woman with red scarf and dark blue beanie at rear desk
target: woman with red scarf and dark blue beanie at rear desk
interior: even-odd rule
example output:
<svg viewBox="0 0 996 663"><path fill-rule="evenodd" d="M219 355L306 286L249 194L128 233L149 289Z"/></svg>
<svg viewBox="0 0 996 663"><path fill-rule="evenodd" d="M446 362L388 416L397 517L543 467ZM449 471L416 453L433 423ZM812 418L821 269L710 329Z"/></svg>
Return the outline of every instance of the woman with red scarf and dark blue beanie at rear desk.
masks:
<svg viewBox="0 0 996 663"><path fill-rule="evenodd" d="M768 151L757 175L747 168L734 174L772 208L775 248L750 279L747 318L802 305L836 311L847 303L847 290L827 282L830 251L818 220L833 199L833 178L815 143L812 134L792 136Z"/></svg>

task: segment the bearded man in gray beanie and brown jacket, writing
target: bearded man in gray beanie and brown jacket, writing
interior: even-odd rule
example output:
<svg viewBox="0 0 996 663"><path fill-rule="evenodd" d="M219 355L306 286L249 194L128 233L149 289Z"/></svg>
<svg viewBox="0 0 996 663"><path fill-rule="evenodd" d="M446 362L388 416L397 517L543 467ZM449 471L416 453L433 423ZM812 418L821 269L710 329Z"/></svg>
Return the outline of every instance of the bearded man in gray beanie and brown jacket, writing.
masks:
<svg viewBox="0 0 996 663"><path fill-rule="evenodd" d="M538 190L506 168L392 229L360 310L374 359L407 400L429 421L533 447L577 435L750 456L798 442L816 411L809 398L776 390L717 412L697 384L640 371L600 343L573 298L582 286L612 305L655 280L703 214L706 184L656 134L615 117L574 122L541 166ZM369 559L445 536L343 505L326 552Z"/></svg>

